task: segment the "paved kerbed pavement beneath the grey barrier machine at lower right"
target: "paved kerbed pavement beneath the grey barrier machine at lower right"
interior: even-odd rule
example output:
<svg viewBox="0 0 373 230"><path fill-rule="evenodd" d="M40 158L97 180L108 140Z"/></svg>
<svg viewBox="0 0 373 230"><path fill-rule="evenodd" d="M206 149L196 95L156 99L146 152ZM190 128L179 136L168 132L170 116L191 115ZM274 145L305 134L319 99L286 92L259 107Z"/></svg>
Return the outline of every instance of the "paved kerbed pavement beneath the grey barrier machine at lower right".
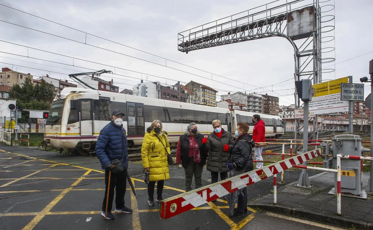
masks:
<svg viewBox="0 0 373 230"><path fill-rule="evenodd" d="M363 188L367 186L369 173L363 173ZM313 188L304 189L289 183L278 190L277 204L273 204L273 195L256 199L249 204L266 211L292 215L320 223L336 224L346 228L373 229L373 199L342 196L341 216L337 212L336 195L328 194L334 186L333 173L319 173L310 177Z"/></svg>

